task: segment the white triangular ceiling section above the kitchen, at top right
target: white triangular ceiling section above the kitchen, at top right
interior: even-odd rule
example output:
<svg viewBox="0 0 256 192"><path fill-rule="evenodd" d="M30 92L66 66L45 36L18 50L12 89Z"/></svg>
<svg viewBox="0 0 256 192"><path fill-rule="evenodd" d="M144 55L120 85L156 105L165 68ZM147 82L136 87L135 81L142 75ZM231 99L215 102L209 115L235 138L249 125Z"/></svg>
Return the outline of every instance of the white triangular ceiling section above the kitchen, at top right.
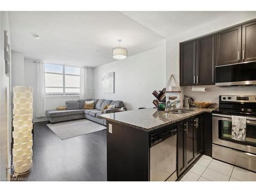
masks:
<svg viewBox="0 0 256 192"><path fill-rule="evenodd" d="M122 13L167 38L239 11L123 11Z"/></svg>

